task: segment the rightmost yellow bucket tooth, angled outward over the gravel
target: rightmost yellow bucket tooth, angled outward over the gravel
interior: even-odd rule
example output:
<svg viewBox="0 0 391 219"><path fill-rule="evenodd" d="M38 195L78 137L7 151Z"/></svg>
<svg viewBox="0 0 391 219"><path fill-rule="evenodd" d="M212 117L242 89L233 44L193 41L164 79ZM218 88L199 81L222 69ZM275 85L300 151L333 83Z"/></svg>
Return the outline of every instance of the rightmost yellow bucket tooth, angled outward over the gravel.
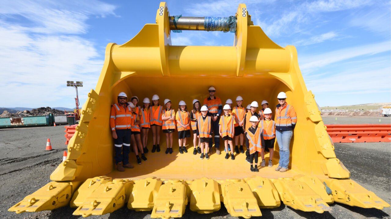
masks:
<svg viewBox="0 0 391 219"><path fill-rule="evenodd" d="M388 203L366 190L364 187L351 179L325 179L330 187L334 200L345 205L357 206L361 208L383 209L390 207Z"/></svg>

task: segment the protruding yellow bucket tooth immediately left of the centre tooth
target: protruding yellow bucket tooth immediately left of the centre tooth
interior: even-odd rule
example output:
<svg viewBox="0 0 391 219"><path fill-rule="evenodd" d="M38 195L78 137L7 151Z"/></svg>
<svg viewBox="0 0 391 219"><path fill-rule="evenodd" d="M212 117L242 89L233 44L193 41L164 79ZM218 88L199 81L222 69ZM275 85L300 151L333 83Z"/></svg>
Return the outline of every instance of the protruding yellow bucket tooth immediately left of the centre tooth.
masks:
<svg viewBox="0 0 391 219"><path fill-rule="evenodd" d="M178 180L160 186L151 218L182 217L187 205L186 185Z"/></svg>

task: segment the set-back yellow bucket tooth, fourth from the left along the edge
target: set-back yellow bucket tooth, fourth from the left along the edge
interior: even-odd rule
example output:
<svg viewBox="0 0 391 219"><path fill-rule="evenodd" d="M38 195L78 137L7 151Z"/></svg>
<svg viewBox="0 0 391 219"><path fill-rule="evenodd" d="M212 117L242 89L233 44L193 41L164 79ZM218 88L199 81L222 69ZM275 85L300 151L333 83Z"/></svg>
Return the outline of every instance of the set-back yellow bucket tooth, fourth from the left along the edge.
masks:
<svg viewBox="0 0 391 219"><path fill-rule="evenodd" d="M163 182L156 178L146 178L136 180L133 190L129 194L127 208L136 211L150 211L158 196L158 192Z"/></svg>

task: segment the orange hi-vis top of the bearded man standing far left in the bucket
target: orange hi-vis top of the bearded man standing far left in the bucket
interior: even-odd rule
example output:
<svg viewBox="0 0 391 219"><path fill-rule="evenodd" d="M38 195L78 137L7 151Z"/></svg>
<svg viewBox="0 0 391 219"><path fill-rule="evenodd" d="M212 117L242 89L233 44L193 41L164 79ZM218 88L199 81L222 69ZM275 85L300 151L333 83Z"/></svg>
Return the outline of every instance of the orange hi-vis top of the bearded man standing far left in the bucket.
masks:
<svg viewBox="0 0 391 219"><path fill-rule="evenodd" d="M114 104L111 106L110 127L115 129L130 129L132 127L132 108L127 105L125 108Z"/></svg>

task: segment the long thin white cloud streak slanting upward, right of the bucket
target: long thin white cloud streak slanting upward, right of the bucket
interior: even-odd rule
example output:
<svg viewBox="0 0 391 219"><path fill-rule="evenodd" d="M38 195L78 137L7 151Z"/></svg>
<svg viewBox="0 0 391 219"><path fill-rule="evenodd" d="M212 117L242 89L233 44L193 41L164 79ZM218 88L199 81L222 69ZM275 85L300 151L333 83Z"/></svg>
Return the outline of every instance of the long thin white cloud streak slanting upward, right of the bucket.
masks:
<svg viewBox="0 0 391 219"><path fill-rule="evenodd" d="M391 43L386 41L353 48L339 49L319 55L307 55L305 57L299 57L300 69L303 72L306 72L310 71L311 69L320 68L325 65L340 62L342 60L347 60L362 55L374 55L384 51L390 51L390 49Z"/></svg>

